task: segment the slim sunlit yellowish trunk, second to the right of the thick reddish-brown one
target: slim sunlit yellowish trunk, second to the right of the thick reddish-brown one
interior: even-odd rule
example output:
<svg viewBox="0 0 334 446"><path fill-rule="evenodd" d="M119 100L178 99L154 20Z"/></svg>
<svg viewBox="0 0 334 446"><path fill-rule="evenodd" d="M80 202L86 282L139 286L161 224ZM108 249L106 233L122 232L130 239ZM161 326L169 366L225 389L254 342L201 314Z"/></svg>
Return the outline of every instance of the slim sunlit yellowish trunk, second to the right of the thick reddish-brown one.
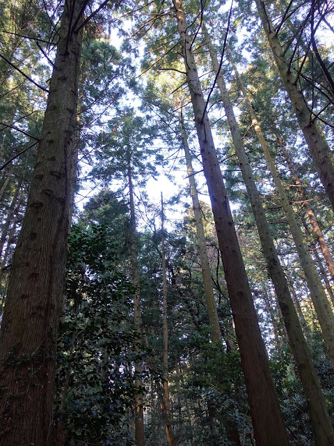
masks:
<svg viewBox="0 0 334 446"><path fill-rule="evenodd" d="M231 54L230 54L231 56ZM232 59L232 56L231 56ZM239 76L237 71L237 67L233 66L234 72L237 75L239 84L241 86L241 91L244 95L244 99L246 101L248 112L250 114L250 118L252 120L252 124L255 128L255 132L257 134L257 138L262 146L262 150L264 153L265 160L267 162L267 166L271 171L271 175L273 176L273 182L276 185L276 189L278 190L278 195L280 197L283 210L285 211L285 215L287 217L287 222L289 224L289 229L292 233L292 237L294 239L294 243L296 245L296 250L299 255L299 260L301 262L301 267L303 268L303 272L305 274L305 279L308 284L308 289L310 290L310 296L315 305L315 311L317 312L317 316L319 318L319 323L321 326L321 332L324 337L324 341L326 342L328 348L328 354L331 357L331 362L334 367L334 331L333 331L333 312L331 309L331 305L328 302L328 298L324 291L324 287L321 284L319 279L319 275L317 274L317 270L315 269L315 265L313 263L310 252L308 251L308 247L305 242L305 238L299 226L299 223L296 220L296 216L294 215L294 210L292 206L290 206L289 199L287 198L287 194L283 187L282 181L280 180L280 176L278 175L278 171L276 169L276 165L273 162L271 157L269 146L267 144L266 139L262 134L262 130L260 127L260 123L257 121L255 116L253 107L251 105L250 99L248 98L247 91L244 87L244 84Z"/></svg>

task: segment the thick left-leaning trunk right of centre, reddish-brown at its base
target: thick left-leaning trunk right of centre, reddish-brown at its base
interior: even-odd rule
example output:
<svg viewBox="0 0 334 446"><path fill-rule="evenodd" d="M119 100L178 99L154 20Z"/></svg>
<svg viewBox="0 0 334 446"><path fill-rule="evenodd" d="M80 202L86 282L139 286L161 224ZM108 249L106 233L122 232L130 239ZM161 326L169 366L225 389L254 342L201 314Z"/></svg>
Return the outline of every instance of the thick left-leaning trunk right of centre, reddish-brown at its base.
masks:
<svg viewBox="0 0 334 446"><path fill-rule="evenodd" d="M214 147L205 100L191 50L191 42L186 30L181 1L173 0L173 4L257 446L288 445L289 440L269 369L267 351L257 322L253 298L250 293L223 176Z"/></svg>

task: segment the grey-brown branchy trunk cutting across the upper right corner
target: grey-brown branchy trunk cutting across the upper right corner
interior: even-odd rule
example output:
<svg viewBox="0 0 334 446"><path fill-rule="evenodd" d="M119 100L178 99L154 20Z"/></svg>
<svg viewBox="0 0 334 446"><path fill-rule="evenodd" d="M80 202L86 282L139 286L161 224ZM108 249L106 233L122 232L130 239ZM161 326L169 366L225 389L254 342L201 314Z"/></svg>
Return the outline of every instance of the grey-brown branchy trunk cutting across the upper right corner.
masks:
<svg viewBox="0 0 334 446"><path fill-rule="evenodd" d="M256 0L256 4L283 85L289 94L292 106L294 107L294 112L299 121L305 141L308 144L308 148L310 149L321 183L324 185L328 199L334 209L333 154L331 153L331 149L328 146L324 134L321 133L315 124L315 118L312 116L312 112L308 109L302 91L297 86L297 77L283 53L280 40L278 39L273 23L267 13L264 1Z"/></svg>

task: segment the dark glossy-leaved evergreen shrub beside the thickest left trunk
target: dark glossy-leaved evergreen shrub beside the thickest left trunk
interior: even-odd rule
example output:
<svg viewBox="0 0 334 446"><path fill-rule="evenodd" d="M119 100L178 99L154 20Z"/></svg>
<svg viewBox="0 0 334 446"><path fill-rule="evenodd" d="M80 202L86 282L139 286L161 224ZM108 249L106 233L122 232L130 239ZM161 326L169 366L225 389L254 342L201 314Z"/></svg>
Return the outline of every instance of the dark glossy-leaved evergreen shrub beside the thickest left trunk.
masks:
<svg viewBox="0 0 334 446"><path fill-rule="evenodd" d="M129 440L125 425L134 398L132 346L138 334L127 314L134 289L118 272L119 247L109 236L102 224L77 224L70 233L56 397L68 445Z"/></svg>

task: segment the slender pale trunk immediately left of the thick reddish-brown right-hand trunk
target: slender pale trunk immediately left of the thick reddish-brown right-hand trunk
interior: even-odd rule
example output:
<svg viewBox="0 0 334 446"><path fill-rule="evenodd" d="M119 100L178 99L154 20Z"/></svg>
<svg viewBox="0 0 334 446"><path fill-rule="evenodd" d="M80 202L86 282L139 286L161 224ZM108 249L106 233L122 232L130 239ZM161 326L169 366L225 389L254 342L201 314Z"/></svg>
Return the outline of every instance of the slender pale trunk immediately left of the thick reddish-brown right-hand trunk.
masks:
<svg viewBox="0 0 334 446"><path fill-rule="evenodd" d="M180 127L182 144L184 148L184 157L186 159L186 171L189 178L191 200L193 201L193 215L195 217L197 244L198 250L200 252L200 268L202 270L205 299L207 301L207 312L209 315L209 324L212 330L212 340L221 341L221 328L219 326L216 301L214 300L214 289L212 287L209 259L207 258L207 244L205 242L202 214L200 211L200 201L198 199L196 180L191 163L188 138L186 137L186 129L184 128L182 108L180 109Z"/></svg>

